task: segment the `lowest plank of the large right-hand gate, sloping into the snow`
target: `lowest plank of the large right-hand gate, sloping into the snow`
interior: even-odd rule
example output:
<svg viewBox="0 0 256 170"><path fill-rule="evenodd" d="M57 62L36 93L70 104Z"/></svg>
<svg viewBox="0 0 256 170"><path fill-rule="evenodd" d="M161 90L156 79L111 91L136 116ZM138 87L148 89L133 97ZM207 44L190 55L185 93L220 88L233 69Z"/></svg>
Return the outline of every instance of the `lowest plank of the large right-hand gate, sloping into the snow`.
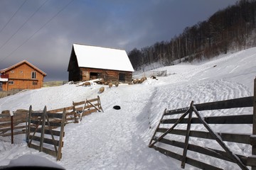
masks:
<svg viewBox="0 0 256 170"><path fill-rule="evenodd" d="M179 161L181 161L181 155L180 154L176 154L175 152L171 152L171 151L163 149L161 147L153 146L153 148L158 150L162 154L165 154L167 157L172 157L174 159L178 159ZM198 169L223 170L223 169L220 169L216 166L212 166L212 165L206 164L204 162L199 162L199 161L196 161L195 159L191 159L189 157L186 158L186 164L190 164L191 166L195 166Z"/></svg>

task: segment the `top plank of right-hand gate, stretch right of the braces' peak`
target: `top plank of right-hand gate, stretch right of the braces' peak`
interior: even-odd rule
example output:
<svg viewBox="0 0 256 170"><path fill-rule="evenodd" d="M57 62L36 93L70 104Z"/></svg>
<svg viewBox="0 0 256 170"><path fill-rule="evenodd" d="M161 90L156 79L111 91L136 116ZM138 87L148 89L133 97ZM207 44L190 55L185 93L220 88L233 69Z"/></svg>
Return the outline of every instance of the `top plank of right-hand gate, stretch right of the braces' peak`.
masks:
<svg viewBox="0 0 256 170"><path fill-rule="evenodd" d="M226 101L215 101L194 105L197 111L218 110L226 108L246 108L253 106L253 96L245 98L235 98Z"/></svg>

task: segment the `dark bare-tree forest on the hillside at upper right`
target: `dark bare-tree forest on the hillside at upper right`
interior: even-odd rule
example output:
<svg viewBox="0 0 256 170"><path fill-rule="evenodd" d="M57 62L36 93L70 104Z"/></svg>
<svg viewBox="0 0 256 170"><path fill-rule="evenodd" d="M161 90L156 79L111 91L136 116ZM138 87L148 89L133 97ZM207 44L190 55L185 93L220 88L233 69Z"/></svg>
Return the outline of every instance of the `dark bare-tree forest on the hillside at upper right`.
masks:
<svg viewBox="0 0 256 170"><path fill-rule="evenodd" d="M209 59L229 51L256 46L256 0L240 0L233 6L217 11L207 21L186 27L170 41L156 42L128 53L135 70L158 62L168 66L195 59ZM143 70L144 71L144 70Z"/></svg>

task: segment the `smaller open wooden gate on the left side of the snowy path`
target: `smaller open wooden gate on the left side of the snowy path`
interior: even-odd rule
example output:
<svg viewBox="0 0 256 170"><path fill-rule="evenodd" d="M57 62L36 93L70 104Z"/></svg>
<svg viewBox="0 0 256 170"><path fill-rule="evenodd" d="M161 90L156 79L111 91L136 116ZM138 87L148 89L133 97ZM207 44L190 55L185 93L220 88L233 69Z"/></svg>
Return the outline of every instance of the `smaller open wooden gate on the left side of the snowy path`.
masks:
<svg viewBox="0 0 256 170"><path fill-rule="evenodd" d="M47 113L46 106L43 111L32 111L32 106L30 106L27 135L28 147L50 154L60 160L62 157L64 125L65 108L63 113Z"/></svg>

